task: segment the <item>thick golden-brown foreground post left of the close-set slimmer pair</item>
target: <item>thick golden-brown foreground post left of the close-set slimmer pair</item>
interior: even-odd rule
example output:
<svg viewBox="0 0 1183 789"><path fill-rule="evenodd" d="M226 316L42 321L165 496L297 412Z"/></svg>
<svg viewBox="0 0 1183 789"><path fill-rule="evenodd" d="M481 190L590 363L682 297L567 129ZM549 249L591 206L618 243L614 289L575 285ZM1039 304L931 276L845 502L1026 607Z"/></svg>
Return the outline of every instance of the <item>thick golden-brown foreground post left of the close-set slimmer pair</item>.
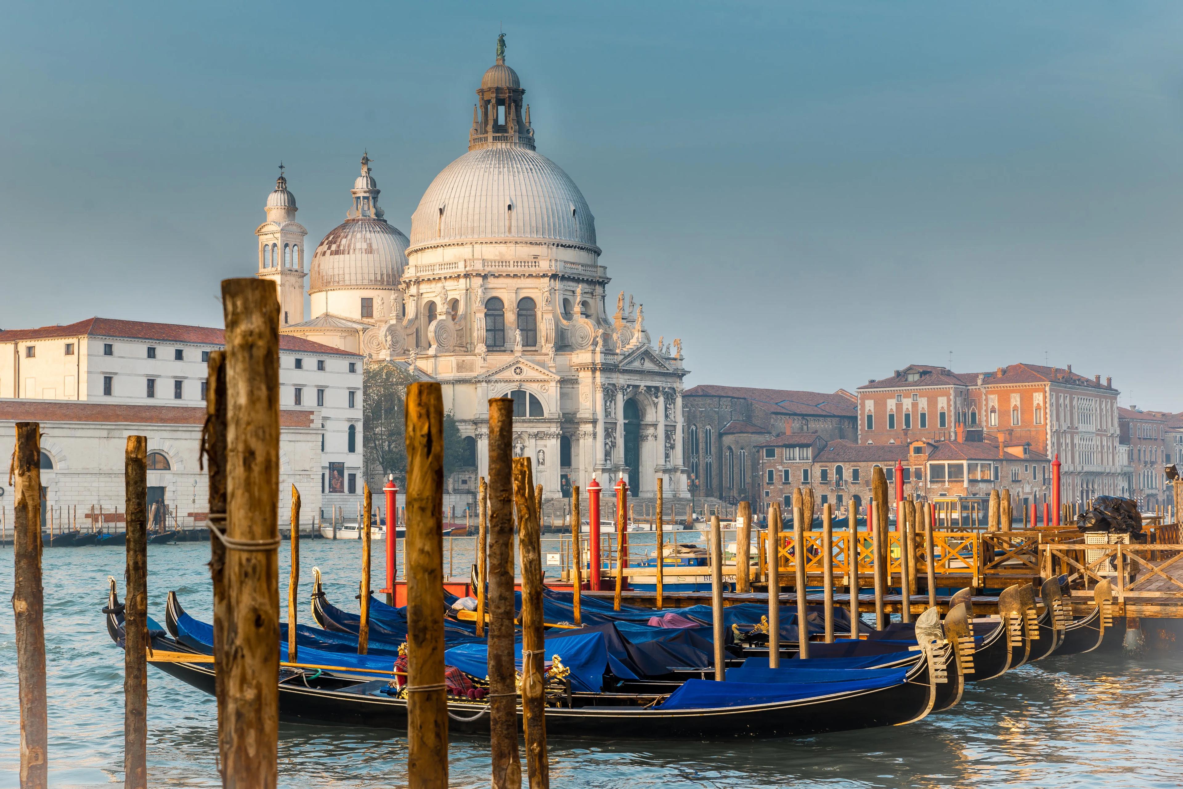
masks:
<svg viewBox="0 0 1183 789"><path fill-rule="evenodd" d="M412 383L406 400L407 785L447 788L447 688L444 685L444 395ZM370 492L364 489L366 532ZM367 562L367 571L369 565ZM369 596L369 576L363 580ZM368 604L367 604L368 608ZM512 614L510 627L512 627Z"/></svg>

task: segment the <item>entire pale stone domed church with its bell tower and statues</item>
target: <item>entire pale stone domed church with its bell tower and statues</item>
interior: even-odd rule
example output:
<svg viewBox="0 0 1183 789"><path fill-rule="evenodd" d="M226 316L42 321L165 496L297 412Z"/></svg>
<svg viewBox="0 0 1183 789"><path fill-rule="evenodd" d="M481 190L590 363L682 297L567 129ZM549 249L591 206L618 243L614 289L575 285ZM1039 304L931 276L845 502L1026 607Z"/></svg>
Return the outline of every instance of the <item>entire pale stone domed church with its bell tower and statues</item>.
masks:
<svg viewBox="0 0 1183 789"><path fill-rule="evenodd" d="M515 454L534 459L548 498L593 476L641 498L660 477L685 497L681 343L654 343L644 305L609 293L595 218L537 153L524 96L499 39L468 150L427 187L409 238L387 222L362 157L345 221L312 256L306 319L306 231L280 176L257 229L259 277L277 284L285 334L439 381L476 473L487 474L487 401L512 397Z"/></svg>

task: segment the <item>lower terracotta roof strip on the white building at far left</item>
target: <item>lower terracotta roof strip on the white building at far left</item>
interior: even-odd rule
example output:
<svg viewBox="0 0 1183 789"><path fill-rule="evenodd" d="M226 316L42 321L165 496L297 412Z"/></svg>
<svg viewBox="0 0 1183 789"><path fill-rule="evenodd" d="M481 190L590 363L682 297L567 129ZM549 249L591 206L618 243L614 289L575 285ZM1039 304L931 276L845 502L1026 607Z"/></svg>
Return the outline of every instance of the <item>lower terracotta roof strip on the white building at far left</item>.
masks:
<svg viewBox="0 0 1183 789"><path fill-rule="evenodd" d="M279 410L280 427L315 427L315 412ZM0 421L205 425L205 407L135 406L88 401L0 400Z"/></svg>

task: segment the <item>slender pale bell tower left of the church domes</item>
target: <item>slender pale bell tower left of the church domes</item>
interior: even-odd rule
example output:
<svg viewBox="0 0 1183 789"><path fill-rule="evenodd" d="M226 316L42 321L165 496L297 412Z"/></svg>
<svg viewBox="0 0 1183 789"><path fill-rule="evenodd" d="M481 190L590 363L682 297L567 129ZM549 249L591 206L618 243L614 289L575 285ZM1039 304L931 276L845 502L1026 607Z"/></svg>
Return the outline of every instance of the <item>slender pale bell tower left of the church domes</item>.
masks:
<svg viewBox="0 0 1183 789"><path fill-rule="evenodd" d="M287 190L284 166L279 164L276 189L267 195L267 221L254 229L259 237L260 279L276 283L279 299L279 326L304 321L304 237L308 231L296 221L296 196Z"/></svg>

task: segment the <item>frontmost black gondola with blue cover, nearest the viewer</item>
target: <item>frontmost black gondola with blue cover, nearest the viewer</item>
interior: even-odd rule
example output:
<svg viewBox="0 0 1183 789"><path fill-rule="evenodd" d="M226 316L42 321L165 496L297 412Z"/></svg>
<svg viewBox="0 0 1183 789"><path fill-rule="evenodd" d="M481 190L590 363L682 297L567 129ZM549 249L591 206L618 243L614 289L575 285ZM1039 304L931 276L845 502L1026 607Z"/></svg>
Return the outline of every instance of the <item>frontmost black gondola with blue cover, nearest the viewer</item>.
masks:
<svg viewBox="0 0 1183 789"><path fill-rule="evenodd" d="M110 581L108 633L123 646L123 608ZM149 627L154 651L174 660L159 668L207 693L214 692L209 658ZM185 660L182 655L193 655ZM791 737L827 731L899 725L925 717L935 688L931 661L880 672L835 672L838 681L715 683L687 680L668 694L580 693L567 685L549 693L547 731L554 736L652 738ZM826 672L820 672L826 673ZM856 674L864 674L856 677ZM343 724L405 730L407 701L392 694L387 679L360 680L334 671L282 667L279 717L305 724ZM554 705L554 706L551 706ZM448 699L450 729L487 733L489 705ZM521 711L519 711L521 720Z"/></svg>

